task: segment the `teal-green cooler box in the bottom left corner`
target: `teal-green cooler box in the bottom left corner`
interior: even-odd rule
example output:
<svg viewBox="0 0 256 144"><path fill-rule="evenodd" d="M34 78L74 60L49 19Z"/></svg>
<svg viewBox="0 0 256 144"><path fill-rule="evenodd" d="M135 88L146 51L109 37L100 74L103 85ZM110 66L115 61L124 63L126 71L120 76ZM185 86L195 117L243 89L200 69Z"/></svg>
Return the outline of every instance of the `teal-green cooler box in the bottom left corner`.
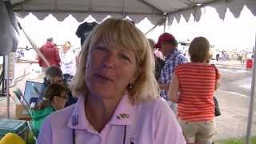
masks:
<svg viewBox="0 0 256 144"><path fill-rule="evenodd" d="M7 133L18 134L25 142L28 139L29 127L27 122L14 119L0 119L0 139Z"/></svg>

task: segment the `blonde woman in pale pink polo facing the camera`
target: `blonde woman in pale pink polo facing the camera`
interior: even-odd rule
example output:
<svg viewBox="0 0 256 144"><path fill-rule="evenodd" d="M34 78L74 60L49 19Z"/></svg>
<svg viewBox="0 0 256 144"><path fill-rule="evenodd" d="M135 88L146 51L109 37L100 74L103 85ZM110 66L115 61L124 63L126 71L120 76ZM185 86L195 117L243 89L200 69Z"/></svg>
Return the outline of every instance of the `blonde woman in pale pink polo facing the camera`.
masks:
<svg viewBox="0 0 256 144"><path fill-rule="evenodd" d="M78 102L46 119L38 144L184 144L182 130L158 97L149 42L127 20L107 19L79 56Z"/></svg>

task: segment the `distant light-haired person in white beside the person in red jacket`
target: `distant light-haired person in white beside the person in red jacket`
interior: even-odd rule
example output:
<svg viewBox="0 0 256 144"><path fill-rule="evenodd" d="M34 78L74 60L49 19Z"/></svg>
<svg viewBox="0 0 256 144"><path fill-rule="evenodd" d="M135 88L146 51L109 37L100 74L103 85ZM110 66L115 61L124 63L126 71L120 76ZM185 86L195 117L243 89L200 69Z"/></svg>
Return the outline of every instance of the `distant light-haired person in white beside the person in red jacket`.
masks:
<svg viewBox="0 0 256 144"><path fill-rule="evenodd" d="M71 48L70 42L65 42L59 54L62 62L61 69L64 76L65 74L74 76L75 70L76 70L75 55L74 55L74 52L70 50L70 48Z"/></svg>

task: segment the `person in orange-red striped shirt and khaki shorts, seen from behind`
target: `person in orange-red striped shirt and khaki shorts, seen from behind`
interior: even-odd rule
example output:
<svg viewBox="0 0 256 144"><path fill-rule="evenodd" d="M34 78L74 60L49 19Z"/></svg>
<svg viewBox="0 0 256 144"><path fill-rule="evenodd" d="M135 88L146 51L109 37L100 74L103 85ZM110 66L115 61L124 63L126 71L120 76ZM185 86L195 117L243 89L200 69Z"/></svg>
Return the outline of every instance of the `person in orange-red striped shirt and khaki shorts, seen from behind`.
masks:
<svg viewBox="0 0 256 144"><path fill-rule="evenodd" d="M189 48L191 62L177 66L170 83L168 94L178 103L178 121L187 143L210 144L214 136L213 98L220 74L209 64L209 52L206 38L194 38Z"/></svg>

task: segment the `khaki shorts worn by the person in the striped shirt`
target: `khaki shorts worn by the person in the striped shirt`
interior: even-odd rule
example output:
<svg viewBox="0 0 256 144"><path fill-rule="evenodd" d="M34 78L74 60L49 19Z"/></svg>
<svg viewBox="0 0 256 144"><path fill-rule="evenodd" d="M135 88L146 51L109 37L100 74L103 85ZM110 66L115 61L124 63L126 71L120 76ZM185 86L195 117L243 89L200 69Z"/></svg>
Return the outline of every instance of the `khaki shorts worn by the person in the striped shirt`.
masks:
<svg viewBox="0 0 256 144"><path fill-rule="evenodd" d="M215 133L215 122L186 122L178 118L179 124L182 126L182 132L187 143L211 144Z"/></svg>

